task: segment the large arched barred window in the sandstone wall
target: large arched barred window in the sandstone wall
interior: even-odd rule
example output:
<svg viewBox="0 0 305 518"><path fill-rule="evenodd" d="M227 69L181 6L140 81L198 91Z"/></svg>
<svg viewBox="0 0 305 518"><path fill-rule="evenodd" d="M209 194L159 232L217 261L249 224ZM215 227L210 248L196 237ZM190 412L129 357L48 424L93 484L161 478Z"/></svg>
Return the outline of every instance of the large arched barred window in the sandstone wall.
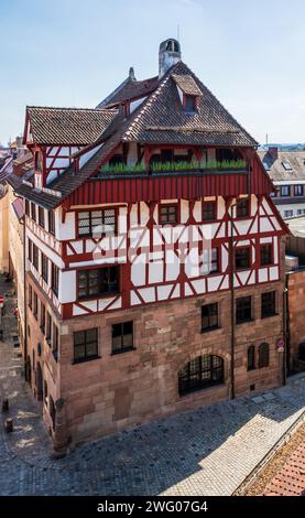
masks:
<svg viewBox="0 0 305 518"><path fill-rule="evenodd" d="M178 373L179 396L224 382L224 359L219 356L198 356Z"/></svg>

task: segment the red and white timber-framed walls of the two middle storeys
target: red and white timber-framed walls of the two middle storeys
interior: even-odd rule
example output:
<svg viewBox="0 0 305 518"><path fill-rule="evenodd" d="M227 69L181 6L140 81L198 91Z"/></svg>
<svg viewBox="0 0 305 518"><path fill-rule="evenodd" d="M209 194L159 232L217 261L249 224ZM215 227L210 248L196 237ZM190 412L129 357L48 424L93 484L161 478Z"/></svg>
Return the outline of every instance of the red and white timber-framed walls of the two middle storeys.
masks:
<svg viewBox="0 0 305 518"><path fill-rule="evenodd" d="M250 268L235 272L235 288L279 281L280 236L286 229L276 208L269 195L252 194L249 217L237 218L236 198L164 198L159 202L70 205L65 209L61 206L55 211L56 237L26 217L26 237L61 270L58 295L52 292L50 281L46 283L39 273L41 265L36 271L28 261L26 269L64 319L228 290L231 231L233 247L249 247L251 251ZM203 201L217 202L214 222L203 223ZM159 222L160 206L168 203L178 207L179 222L174 227L160 226ZM233 222L230 219L231 206ZM116 235L100 239L79 238L78 212L106 207L117 209ZM204 242L207 240L210 240L211 248L218 249L219 257L218 271L211 274L203 274L200 270ZM272 246L273 261L261 267L260 247L264 244ZM119 293L78 301L77 271L106 266L119 266Z"/></svg>

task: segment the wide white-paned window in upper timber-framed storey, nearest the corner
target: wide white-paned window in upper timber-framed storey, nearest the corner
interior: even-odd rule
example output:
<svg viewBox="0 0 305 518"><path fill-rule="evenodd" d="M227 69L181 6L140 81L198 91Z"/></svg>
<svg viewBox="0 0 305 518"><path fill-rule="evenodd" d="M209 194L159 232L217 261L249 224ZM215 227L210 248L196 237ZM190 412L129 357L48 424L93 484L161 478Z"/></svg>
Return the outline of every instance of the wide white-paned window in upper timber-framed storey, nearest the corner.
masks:
<svg viewBox="0 0 305 518"><path fill-rule="evenodd" d="M81 212L77 214L78 236L100 236L117 230L116 209Z"/></svg>

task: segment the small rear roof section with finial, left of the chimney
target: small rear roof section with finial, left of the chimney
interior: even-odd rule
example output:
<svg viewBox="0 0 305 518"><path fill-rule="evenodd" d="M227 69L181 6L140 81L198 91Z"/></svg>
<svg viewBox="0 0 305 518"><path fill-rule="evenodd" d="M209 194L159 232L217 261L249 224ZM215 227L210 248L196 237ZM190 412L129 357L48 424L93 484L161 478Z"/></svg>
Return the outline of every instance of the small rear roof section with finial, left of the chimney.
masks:
<svg viewBox="0 0 305 518"><path fill-rule="evenodd" d="M104 106L111 107L120 102L124 102L131 99L138 99L139 97L144 97L154 91L157 86L157 76L151 77L150 79L145 80L135 80L130 78L119 91L115 93L113 97L109 96L105 99L105 101L100 102L98 105L98 108L101 108Z"/></svg>

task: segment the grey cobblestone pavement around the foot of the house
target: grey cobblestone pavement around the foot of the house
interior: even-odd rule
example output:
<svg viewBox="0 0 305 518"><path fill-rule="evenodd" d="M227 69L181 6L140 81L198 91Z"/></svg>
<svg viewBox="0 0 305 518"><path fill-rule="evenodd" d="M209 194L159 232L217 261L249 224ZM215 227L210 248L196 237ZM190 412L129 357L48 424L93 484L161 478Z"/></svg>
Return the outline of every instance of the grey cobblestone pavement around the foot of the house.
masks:
<svg viewBox="0 0 305 518"><path fill-rule="evenodd" d="M0 293L3 284L0 279ZM74 449L53 460L41 408L22 376L8 304L0 389L14 432L0 428L0 495L230 495L305 410L305 374L263 395L216 403Z"/></svg>

